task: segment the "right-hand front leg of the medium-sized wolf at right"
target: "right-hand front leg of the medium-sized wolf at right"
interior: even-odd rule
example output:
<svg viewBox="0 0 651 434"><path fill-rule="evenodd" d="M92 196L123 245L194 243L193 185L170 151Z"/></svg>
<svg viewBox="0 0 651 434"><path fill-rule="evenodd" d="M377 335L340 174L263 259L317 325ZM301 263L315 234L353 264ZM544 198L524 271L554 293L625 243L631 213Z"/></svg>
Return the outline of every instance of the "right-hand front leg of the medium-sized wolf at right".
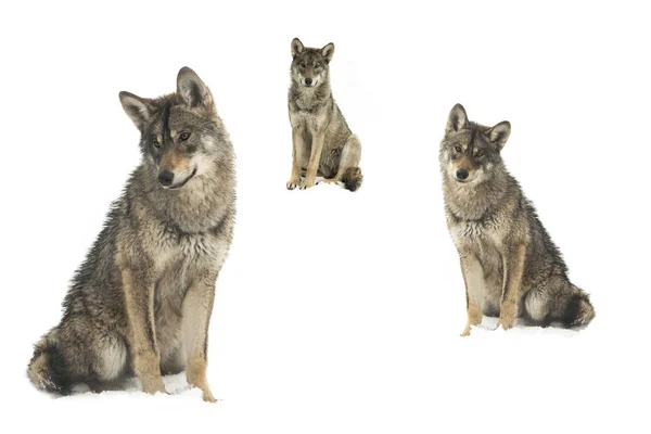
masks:
<svg viewBox="0 0 651 434"><path fill-rule="evenodd" d="M501 326L505 330L511 329L518 319L525 255L526 245L524 244L507 247L505 253L502 253L502 294L499 304L499 321L497 327Z"/></svg>

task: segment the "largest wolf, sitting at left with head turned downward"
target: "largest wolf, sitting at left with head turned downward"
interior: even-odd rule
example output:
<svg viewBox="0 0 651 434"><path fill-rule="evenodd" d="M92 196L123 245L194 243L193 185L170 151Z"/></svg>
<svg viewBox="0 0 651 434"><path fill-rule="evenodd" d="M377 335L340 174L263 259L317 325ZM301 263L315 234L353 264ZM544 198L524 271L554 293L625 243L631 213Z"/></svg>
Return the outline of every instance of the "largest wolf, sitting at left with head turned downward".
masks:
<svg viewBox="0 0 651 434"><path fill-rule="evenodd" d="M188 67L176 93L119 100L140 130L142 161L75 273L61 323L35 345L27 375L65 395L76 383L102 390L136 374L155 393L165 391L162 374L184 369L214 401L208 322L232 237L233 149L210 91Z"/></svg>

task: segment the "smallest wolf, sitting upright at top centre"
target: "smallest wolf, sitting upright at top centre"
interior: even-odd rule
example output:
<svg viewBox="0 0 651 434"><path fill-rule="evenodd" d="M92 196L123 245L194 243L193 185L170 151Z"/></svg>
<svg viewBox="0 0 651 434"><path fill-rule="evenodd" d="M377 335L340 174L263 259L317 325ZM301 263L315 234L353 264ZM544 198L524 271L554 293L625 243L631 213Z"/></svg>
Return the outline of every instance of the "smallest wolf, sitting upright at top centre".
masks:
<svg viewBox="0 0 651 434"><path fill-rule="evenodd" d="M288 189L314 187L321 182L343 182L349 191L361 186L361 144L350 132L330 90L330 61L334 44L322 49L292 41L292 85L289 92L292 124L292 176ZM305 176L303 181L302 175Z"/></svg>

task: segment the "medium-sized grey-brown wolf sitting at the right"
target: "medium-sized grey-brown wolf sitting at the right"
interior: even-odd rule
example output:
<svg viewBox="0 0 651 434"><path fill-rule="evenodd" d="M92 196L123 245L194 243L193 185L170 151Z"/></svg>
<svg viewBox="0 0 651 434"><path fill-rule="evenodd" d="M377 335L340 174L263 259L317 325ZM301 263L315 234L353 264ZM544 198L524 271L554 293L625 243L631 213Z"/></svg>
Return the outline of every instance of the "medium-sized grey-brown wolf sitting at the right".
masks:
<svg viewBox="0 0 651 434"><path fill-rule="evenodd" d="M567 278L561 253L500 151L511 125L485 127L452 107L441 142L441 173L448 229L461 259L468 323L499 316L505 330L527 322L564 327L588 324L595 310L588 294Z"/></svg>

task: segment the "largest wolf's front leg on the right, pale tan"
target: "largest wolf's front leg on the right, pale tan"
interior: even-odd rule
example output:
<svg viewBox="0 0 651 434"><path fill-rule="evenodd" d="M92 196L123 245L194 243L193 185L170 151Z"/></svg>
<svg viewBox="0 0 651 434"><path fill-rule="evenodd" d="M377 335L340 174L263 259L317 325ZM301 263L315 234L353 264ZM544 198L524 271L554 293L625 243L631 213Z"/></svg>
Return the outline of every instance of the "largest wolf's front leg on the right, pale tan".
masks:
<svg viewBox="0 0 651 434"><path fill-rule="evenodd" d="M206 271L188 290L182 308L182 334L188 383L203 392L205 401L215 403L206 380L208 365L208 324L215 302L217 273Z"/></svg>

